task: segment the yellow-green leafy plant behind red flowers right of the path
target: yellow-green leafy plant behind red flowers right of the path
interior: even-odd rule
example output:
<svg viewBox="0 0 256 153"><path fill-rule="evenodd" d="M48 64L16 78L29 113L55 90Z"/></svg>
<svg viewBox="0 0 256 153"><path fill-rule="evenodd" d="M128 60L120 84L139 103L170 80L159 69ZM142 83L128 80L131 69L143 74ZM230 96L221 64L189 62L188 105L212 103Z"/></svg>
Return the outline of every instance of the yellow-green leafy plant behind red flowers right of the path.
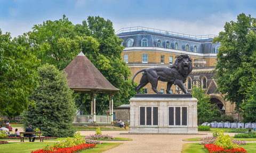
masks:
<svg viewBox="0 0 256 153"><path fill-rule="evenodd" d="M222 130L220 130L218 132L218 139L214 142L214 144L223 149L234 149L234 148L238 147L237 144L232 142L232 139L230 138L230 136L228 134L224 135Z"/></svg>

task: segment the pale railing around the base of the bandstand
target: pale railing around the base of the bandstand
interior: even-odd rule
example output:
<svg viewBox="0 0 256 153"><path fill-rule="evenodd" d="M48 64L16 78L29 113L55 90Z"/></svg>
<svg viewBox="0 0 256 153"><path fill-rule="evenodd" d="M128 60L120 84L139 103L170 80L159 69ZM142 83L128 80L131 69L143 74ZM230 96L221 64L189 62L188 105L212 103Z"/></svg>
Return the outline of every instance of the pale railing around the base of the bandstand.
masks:
<svg viewBox="0 0 256 153"><path fill-rule="evenodd" d="M93 115L75 115L75 124L92 124ZM96 115L97 124L111 124L111 116L109 115Z"/></svg>

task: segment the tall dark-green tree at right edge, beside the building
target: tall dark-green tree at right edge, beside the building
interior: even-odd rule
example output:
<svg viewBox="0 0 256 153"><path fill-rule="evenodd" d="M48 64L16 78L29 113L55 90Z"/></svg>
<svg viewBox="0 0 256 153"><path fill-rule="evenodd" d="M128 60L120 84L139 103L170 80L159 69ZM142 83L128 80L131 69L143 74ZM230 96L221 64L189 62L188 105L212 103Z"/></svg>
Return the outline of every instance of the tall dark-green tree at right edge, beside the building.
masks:
<svg viewBox="0 0 256 153"><path fill-rule="evenodd" d="M221 43L217 54L218 91L225 99L236 104L245 100L248 84L256 75L256 20L244 13L237 16L237 22L226 22L224 31L212 43Z"/></svg>

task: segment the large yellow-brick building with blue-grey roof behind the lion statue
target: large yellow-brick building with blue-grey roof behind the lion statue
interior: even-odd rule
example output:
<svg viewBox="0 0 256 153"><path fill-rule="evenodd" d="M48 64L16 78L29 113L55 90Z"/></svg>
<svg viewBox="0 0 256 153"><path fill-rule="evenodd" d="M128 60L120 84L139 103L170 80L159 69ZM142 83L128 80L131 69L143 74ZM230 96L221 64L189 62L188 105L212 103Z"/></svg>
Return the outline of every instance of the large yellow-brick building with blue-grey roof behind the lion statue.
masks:
<svg viewBox="0 0 256 153"><path fill-rule="evenodd" d="M122 58L130 67L132 75L143 68L169 67L179 55L188 54L193 62L193 71L185 83L187 90L191 91L194 84L204 85L206 94L211 97L211 103L214 103L215 107L218 106L221 114L233 115L239 119L234 114L235 104L223 100L221 93L215 93L217 84L213 78L213 69L220 44L212 44L214 35L193 36L145 27L122 28L116 34L119 39L124 40ZM142 73L138 74L134 82L139 83L141 76ZM166 82L158 81L157 90L166 93L166 85ZM150 84L144 88L145 93L155 93ZM174 85L170 92L183 93Z"/></svg>

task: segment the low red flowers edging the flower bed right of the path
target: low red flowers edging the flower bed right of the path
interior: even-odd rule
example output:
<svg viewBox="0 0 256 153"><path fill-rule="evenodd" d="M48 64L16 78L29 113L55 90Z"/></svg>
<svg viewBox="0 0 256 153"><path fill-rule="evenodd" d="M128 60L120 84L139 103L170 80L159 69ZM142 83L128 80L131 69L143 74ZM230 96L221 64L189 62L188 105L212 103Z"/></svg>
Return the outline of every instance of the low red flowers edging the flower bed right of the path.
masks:
<svg viewBox="0 0 256 153"><path fill-rule="evenodd" d="M235 149L223 149L219 146L216 146L215 144L204 144L204 147L210 152L210 153L224 153L224 152L229 152L229 153L245 153L247 152L244 148L238 147Z"/></svg>

